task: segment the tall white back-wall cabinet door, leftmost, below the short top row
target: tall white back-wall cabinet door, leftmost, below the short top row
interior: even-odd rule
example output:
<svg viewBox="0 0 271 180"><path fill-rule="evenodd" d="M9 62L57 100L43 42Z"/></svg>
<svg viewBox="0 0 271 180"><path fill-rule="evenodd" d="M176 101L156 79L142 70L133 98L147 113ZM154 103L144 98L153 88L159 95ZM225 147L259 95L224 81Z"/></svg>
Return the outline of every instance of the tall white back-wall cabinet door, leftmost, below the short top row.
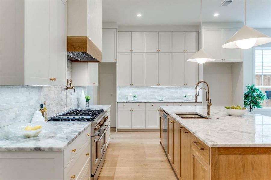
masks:
<svg viewBox="0 0 271 180"><path fill-rule="evenodd" d="M118 86L131 86L132 82L132 53L122 52L118 57Z"/></svg>

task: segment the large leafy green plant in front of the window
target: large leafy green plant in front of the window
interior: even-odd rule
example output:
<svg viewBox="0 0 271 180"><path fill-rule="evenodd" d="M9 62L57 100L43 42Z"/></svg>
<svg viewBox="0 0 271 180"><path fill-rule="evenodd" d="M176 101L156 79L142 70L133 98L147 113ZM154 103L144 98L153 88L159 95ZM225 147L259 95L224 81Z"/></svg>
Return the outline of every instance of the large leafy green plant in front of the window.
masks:
<svg viewBox="0 0 271 180"><path fill-rule="evenodd" d="M254 84L246 87L248 91L244 92L244 107L249 106L249 112L252 108L262 108L261 104L267 98L266 95Z"/></svg>

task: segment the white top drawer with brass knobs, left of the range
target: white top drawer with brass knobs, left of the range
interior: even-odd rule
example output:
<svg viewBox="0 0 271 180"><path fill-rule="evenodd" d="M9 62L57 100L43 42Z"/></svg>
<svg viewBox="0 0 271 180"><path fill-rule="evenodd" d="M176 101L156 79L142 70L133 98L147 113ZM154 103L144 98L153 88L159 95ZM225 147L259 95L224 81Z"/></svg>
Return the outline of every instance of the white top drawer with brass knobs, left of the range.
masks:
<svg viewBox="0 0 271 180"><path fill-rule="evenodd" d="M86 141L90 142L90 128L82 132L68 147L64 149L64 168L75 157Z"/></svg>

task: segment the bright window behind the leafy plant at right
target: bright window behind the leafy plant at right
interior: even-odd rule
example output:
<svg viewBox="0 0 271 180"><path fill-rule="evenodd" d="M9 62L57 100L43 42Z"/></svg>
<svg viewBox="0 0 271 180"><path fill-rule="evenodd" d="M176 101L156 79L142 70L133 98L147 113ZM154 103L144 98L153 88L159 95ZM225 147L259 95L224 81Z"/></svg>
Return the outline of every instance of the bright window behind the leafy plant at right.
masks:
<svg viewBox="0 0 271 180"><path fill-rule="evenodd" d="M267 96L263 107L271 107L271 47L255 48L255 85Z"/></svg>

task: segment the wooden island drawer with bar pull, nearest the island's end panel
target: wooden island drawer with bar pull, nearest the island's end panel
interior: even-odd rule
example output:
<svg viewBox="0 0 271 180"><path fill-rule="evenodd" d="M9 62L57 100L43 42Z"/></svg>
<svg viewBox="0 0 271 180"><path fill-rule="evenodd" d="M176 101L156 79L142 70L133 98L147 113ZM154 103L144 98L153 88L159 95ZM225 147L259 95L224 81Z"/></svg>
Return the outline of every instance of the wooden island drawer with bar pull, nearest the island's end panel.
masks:
<svg viewBox="0 0 271 180"><path fill-rule="evenodd" d="M192 148L208 163L210 164L210 147L203 143L196 136L192 136Z"/></svg>

